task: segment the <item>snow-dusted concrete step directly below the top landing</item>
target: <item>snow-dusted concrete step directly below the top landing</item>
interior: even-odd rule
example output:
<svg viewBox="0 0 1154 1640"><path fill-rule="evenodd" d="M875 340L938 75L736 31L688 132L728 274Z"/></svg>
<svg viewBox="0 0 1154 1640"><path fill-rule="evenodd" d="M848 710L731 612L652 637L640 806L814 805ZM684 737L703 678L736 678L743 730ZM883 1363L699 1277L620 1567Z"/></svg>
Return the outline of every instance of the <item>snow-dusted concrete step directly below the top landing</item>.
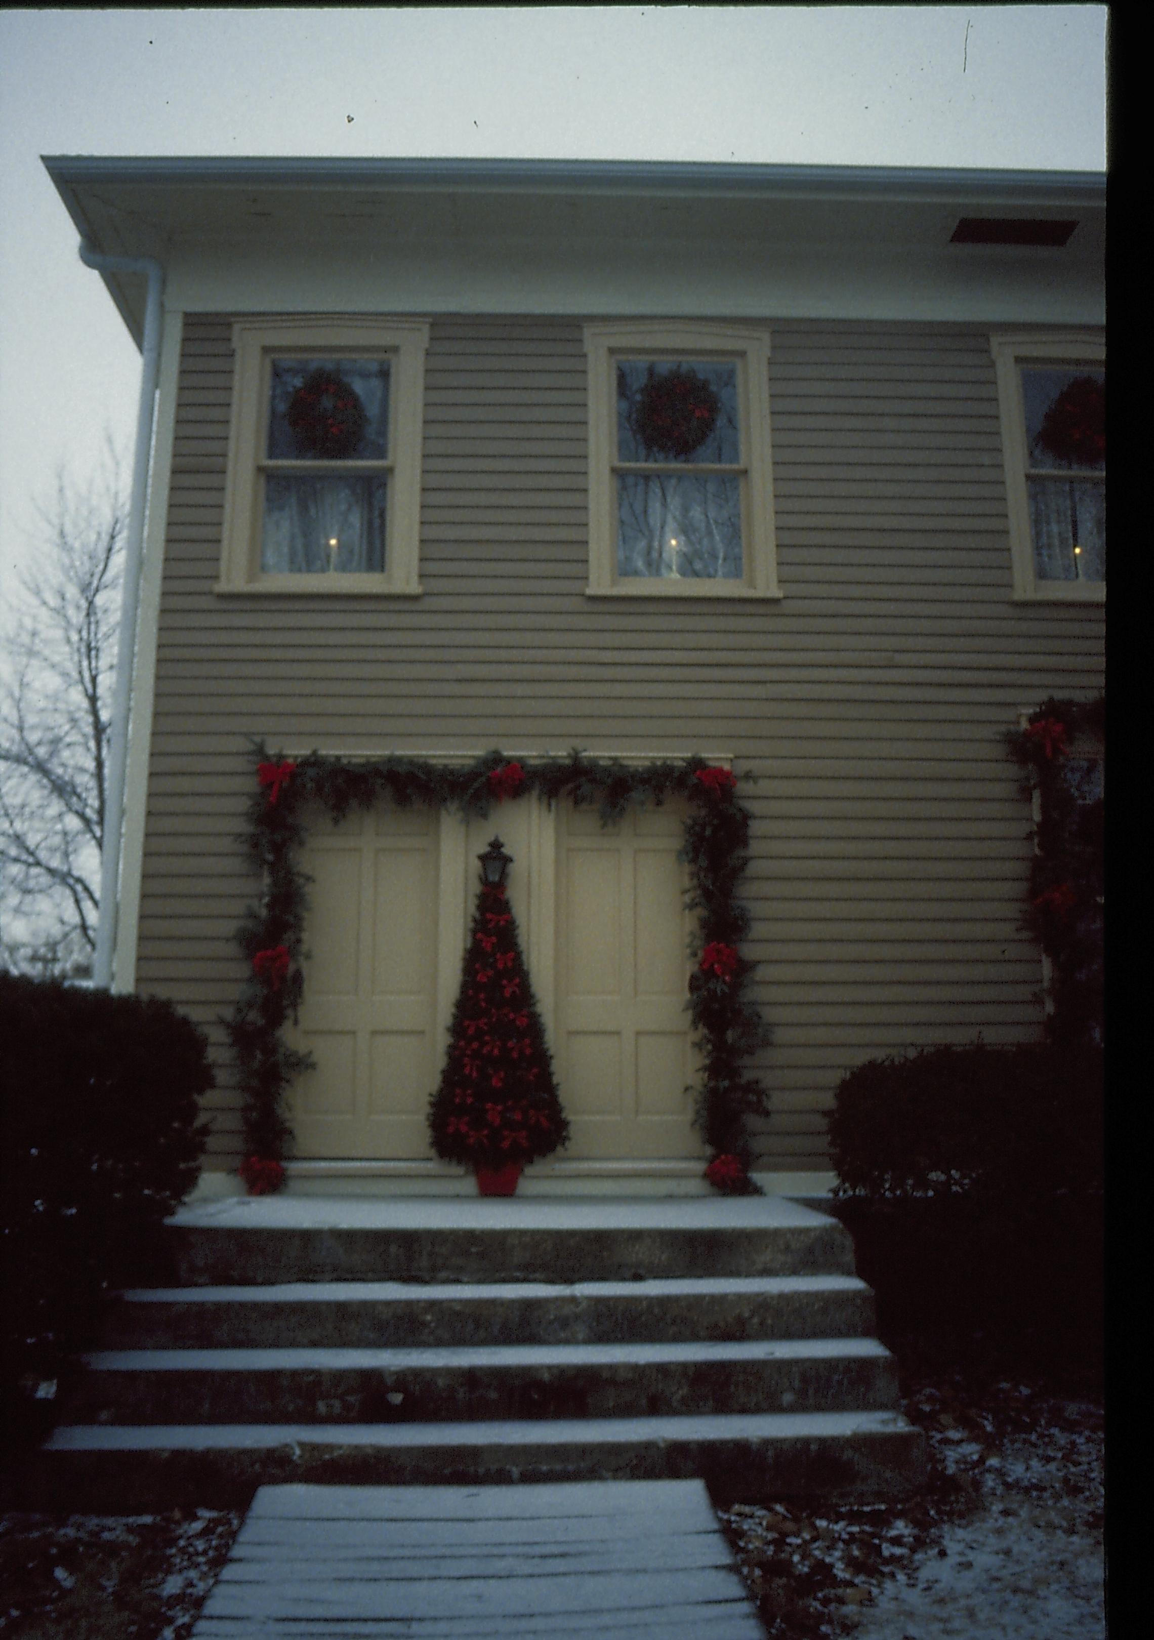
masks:
<svg viewBox="0 0 1154 1640"><path fill-rule="evenodd" d="M857 1276L672 1281L282 1282L143 1287L105 1327L110 1350L628 1343L861 1338L874 1296Z"/></svg>

